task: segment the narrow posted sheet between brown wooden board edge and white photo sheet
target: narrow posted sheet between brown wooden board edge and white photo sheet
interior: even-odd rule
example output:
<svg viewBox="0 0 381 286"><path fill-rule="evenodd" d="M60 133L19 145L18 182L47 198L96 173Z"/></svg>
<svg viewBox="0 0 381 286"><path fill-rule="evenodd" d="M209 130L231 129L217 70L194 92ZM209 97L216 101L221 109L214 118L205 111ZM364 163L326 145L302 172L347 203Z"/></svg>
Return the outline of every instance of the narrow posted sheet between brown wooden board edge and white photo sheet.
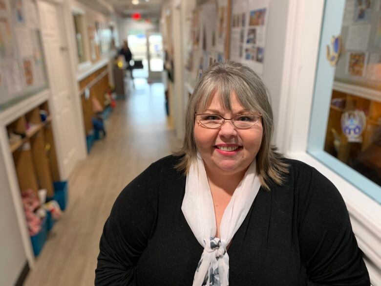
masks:
<svg viewBox="0 0 381 286"><path fill-rule="evenodd" d="M246 29L248 25L247 1L233 2L232 29L230 43L230 58L235 62L242 62L243 47L246 41Z"/></svg>

